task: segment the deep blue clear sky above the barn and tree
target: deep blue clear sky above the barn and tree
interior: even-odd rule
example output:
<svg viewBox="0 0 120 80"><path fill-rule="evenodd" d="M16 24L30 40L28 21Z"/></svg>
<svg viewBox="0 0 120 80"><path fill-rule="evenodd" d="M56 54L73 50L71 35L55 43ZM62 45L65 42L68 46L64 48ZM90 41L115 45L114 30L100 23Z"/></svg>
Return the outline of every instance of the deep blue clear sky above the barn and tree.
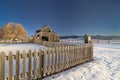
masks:
<svg viewBox="0 0 120 80"><path fill-rule="evenodd" d="M120 35L120 0L0 0L0 27L8 22L29 36L46 24L60 35Z"/></svg>

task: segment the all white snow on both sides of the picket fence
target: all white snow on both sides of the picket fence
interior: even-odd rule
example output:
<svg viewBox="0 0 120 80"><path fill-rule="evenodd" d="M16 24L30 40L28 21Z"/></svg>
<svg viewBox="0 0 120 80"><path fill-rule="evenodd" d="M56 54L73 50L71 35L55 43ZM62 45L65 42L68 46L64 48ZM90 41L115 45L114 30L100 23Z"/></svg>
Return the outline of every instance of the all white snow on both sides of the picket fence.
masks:
<svg viewBox="0 0 120 80"><path fill-rule="evenodd" d="M0 52L16 52L17 50L46 49L35 44L0 44ZM93 61L84 63L43 80L120 80L120 44L94 44ZM14 61L15 63L15 61ZM28 68L26 60L26 71ZM20 62L22 65L22 61ZM8 76L8 62L6 61L6 76ZM15 68L15 64L13 65ZM33 68L33 66L32 66ZM20 73L22 66L20 66ZM15 71L13 71L15 74Z"/></svg>

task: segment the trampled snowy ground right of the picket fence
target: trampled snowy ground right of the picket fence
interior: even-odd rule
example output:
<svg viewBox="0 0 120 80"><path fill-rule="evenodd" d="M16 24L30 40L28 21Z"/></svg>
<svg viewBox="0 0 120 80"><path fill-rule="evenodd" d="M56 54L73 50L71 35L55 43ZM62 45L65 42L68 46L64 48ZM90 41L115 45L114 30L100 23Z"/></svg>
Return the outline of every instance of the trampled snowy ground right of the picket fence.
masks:
<svg viewBox="0 0 120 80"><path fill-rule="evenodd" d="M43 80L120 80L120 44L94 44L93 59Z"/></svg>

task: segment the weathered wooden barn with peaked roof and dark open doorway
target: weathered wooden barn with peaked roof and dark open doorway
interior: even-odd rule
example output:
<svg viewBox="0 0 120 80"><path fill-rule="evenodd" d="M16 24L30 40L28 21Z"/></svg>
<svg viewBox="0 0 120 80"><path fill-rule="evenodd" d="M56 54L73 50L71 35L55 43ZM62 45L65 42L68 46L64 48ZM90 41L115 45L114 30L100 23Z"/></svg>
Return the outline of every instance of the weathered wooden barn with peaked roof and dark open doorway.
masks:
<svg viewBox="0 0 120 80"><path fill-rule="evenodd" d="M34 38L39 41L59 42L60 35L55 33L49 25L45 25L36 31Z"/></svg>

